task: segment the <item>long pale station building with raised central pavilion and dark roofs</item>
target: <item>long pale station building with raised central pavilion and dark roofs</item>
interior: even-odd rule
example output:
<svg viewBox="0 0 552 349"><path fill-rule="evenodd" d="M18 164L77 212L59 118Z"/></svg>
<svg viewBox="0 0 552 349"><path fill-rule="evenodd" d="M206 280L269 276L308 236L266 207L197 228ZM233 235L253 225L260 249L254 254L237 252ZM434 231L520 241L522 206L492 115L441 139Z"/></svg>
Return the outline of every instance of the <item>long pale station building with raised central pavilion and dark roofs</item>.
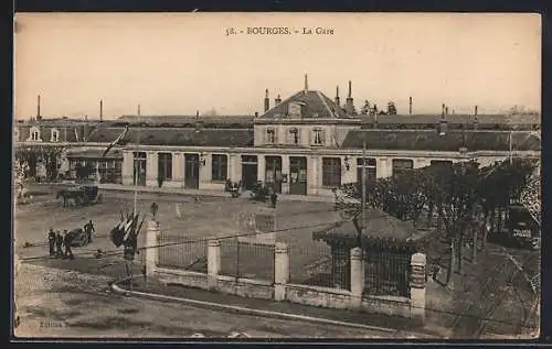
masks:
<svg viewBox="0 0 552 349"><path fill-rule="evenodd" d="M278 96L272 107L267 91L262 114L126 116L88 127L92 130L83 130L83 135L73 132L72 142L66 129L57 138L71 143L72 163L92 161L105 167L112 183L223 190L226 179L241 182L244 188L261 181L294 195L331 195L333 187L360 181L363 165L369 176L380 178L432 162L477 160L485 166L510 155L540 159L538 116L518 118L514 124L508 116L445 111L359 116L351 85L343 107L339 96L332 100L305 85L285 100ZM126 126L123 146L102 157ZM43 131L36 135L36 130L28 129L17 131L20 145L43 139ZM54 131L47 137L55 139Z"/></svg>

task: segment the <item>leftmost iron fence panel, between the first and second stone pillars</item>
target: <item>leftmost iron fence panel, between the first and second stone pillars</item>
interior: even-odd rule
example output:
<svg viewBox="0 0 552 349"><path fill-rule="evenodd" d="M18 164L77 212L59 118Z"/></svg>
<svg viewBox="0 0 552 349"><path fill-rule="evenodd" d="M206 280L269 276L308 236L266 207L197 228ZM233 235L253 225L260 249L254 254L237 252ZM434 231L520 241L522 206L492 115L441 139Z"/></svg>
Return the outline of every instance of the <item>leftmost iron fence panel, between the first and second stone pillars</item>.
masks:
<svg viewBox="0 0 552 349"><path fill-rule="evenodd" d="M161 233L158 265L206 273L209 239L191 239L190 235Z"/></svg>

